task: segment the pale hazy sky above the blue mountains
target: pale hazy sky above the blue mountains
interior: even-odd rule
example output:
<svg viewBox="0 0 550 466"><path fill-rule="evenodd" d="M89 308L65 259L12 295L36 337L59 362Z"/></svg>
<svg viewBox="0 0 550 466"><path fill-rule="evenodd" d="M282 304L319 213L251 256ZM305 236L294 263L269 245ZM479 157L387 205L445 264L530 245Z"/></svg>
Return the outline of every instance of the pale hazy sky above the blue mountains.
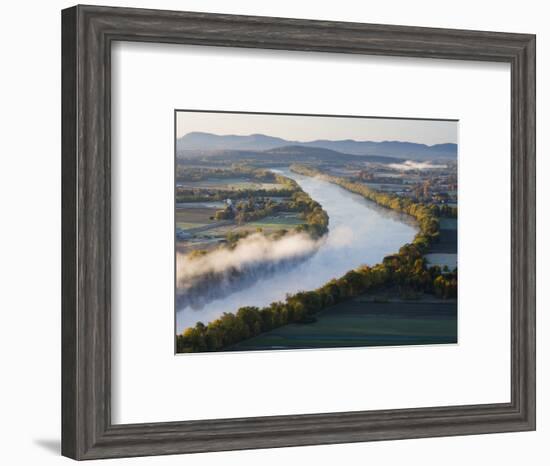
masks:
<svg viewBox="0 0 550 466"><path fill-rule="evenodd" d="M456 121L178 112L177 137L192 131L218 135L260 133L302 142L355 139L428 145L456 143L458 137Z"/></svg>

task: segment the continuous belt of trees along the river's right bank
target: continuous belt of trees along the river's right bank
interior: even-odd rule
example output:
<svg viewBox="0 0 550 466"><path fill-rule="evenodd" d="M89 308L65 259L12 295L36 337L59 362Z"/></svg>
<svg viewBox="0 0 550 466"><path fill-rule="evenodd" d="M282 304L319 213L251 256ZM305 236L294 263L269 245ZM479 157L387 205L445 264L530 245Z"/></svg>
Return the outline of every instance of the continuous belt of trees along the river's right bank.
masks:
<svg viewBox="0 0 550 466"><path fill-rule="evenodd" d="M275 302L263 308L241 307L236 313L224 313L206 325L198 322L177 335L178 353L224 350L287 324L315 322L315 315L324 309L382 289L395 288L410 296L428 293L444 299L456 298L458 271L448 271L437 265L429 267L424 258L430 246L439 239L439 218L456 218L456 207L426 205L395 194L377 192L362 183L327 175L312 167L292 165L290 168L304 176L322 177L382 207L407 214L415 219L419 232L411 243L386 256L381 263L350 270L320 288L288 295L284 302ZM293 180L282 178L298 187ZM328 217L325 228L327 231Z"/></svg>

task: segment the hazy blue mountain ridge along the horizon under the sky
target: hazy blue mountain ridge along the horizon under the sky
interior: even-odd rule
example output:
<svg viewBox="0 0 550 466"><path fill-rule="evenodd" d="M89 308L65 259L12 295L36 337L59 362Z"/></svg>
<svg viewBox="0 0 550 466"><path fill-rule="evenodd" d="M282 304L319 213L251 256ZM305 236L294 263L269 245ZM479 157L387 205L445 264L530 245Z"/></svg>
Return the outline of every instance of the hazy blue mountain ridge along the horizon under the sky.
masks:
<svg viewBox="0 0 550 466"><path fill-rule="evenodd" d="M349 155L388 156L399 159L431 160L456 159L457 145L452 143L435 144L428 146L406 141L355 141L344 139L331 141L318 139L315 141L300 142L288 141L282 138L265 134L251 134L249 136L219 136L211 133L192 132L177 140L176 150L179 157L194 156L201 153L209 156L217 151L266 151L285 146L314 147L330 149Z"/></svg>

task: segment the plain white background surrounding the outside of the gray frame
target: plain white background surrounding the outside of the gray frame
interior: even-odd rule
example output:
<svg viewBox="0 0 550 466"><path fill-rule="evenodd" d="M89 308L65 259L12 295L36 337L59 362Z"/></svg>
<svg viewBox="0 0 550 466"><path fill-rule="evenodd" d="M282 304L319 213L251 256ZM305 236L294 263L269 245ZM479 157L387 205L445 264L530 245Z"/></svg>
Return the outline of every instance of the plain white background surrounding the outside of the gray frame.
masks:
<svg viewBox="0 0 550 466"><path fill-rule="evenodd" d="M530 32L538 35L538 431L533 433L368 444L210 453L110 461L109 464L279 465L547 464L550 304L544 290L550 250L549 191L543 159L550 124L550 16L544 2L524 0L158 0L96 4L255 14L416 26ZM0 458L5 464L62 464L60 431L60 9L71 2L12 2L2 9L0 34ZM541 181L543 180L543 181ZM546 215L543 212L546 211Z"/></svg>

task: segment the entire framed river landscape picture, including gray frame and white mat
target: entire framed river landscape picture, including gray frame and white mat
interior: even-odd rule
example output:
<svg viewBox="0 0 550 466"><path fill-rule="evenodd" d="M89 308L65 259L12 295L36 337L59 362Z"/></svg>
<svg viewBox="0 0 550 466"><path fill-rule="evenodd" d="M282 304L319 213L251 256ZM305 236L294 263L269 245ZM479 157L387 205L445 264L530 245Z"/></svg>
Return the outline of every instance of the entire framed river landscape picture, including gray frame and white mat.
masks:
<svg viewBox="0 0 550 466"><path fill-rule="evenodd" d="M62 65L64 455L535 429L535 36L76 6Z"/></svg>

